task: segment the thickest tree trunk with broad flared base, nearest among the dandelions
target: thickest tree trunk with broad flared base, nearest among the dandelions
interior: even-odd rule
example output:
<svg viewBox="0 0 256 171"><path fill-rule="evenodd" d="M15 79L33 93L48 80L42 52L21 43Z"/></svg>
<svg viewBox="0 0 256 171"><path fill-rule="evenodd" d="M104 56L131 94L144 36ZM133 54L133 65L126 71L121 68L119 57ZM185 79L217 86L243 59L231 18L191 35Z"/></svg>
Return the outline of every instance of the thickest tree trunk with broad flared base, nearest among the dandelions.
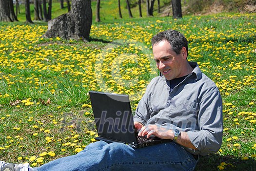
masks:
<svg viewBox="0 0 256 171"><path fill-rule="evenodd" d="M44 38L89 39L92 25L91 0L72 0L70 12L48 22Z"/></svg>

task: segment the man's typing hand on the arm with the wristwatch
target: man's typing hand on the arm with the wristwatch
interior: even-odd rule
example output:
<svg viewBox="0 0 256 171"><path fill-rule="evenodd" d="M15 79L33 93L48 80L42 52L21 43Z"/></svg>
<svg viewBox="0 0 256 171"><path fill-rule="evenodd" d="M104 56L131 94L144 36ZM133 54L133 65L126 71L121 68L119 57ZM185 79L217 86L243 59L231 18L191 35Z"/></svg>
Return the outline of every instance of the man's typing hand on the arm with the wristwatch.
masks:
<svg viewBox="0 0 256 171"><path fill-rule="evenodd" d="M146 125L143 126L139 133L139 136L146 136L149 138L150 136L157 136L161 139L173 139L173 133L172 130L168 130L165 128L162 128L158 125Z"/></svg>

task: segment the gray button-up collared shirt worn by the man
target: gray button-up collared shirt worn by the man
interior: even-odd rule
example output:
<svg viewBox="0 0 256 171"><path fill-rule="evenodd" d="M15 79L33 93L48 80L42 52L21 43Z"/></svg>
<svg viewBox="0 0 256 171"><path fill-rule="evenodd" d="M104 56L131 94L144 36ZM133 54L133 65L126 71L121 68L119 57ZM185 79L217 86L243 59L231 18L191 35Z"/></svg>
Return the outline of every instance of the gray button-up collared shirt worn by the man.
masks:
<svg viewBox="0 0 256 171"><path fill-rule="evenodd" d="M216 84L197 63L190 65L194 68L192 73L171 93L164 76L153 78L138 103L134 121L187 132L198 150L186 150L206 155L217 152L222 143L222 99Z"/></svg>

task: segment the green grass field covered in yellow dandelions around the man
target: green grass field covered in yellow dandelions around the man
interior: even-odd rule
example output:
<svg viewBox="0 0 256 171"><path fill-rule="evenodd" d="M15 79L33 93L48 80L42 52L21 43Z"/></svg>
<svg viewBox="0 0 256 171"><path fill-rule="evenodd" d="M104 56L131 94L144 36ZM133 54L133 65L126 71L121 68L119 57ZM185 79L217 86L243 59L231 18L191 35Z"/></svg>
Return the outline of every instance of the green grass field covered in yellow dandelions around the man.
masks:
<svg viewBox="0 0 256 171"><path fill-rule="evenodd" d="M38 167L95 141L89 90L130 95L133 111L158 75L151 38L175 29L188 60L223 98L219 152L197 171L256 168L256 14L94 23L90 41L41 38L47 25L0 23L0 160Z"/></svg>

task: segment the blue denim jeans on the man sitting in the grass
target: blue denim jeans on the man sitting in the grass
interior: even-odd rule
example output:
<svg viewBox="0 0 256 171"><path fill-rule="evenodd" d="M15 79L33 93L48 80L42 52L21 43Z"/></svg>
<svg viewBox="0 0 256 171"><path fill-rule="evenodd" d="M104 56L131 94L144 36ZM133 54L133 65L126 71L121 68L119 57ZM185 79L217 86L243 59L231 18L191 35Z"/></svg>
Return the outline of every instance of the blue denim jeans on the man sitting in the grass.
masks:
<svg viewBox="0 0 256 171"><path fill-rule="evenodd" d="M46 163L35 171L194 171L194 156L174 142L133 149L98 141L83 151Z"/></svg>

